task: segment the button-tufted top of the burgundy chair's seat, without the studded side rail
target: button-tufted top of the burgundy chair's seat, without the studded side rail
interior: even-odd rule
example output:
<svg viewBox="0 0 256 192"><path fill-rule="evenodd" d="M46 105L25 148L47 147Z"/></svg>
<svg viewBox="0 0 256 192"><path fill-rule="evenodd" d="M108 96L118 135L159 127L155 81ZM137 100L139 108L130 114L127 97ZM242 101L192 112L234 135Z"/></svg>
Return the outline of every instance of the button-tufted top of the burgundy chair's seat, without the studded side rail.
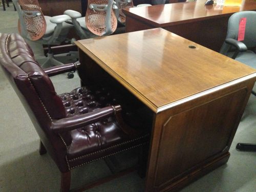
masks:
<svg viewBox="0 0 256 192"><path fill-rule="evenodd" d="M65 106L67 116L71 117L90 113L104 106L111 105L106 102L107 99L103 99L103 95L95 95L97 94L87 87L82 87L59 96ZM104 147L119 142L125 137L126 135L121 131L115 119L108 118L102 122L96 122L71 131L68 156L75 158L83 154L101 150Z"/></svg>

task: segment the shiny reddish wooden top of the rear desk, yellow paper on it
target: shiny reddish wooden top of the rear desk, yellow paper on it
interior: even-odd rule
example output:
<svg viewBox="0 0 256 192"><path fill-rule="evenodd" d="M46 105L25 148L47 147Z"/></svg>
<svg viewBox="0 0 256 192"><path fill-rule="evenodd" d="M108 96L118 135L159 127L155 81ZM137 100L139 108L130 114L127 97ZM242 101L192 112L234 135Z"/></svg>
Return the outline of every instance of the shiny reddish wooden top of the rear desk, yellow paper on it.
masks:
<svg viewBox="0 0 256 192"><path fill-rule="evenodd" d="M241 7L204 5L205 0L149 7L126 8L125 15L144 20L156 27L172 26L210 18L228 16L238 11L256 10L256 1L243 0Z"/></svg>

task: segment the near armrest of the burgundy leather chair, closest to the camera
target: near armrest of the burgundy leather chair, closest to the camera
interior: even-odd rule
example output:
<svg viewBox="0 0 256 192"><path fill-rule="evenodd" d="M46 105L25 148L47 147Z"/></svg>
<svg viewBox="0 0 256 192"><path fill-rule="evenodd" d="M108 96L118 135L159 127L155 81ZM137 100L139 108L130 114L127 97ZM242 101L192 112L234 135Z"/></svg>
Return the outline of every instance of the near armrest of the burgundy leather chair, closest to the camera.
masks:
<svg viewBox="0 0 256 192"><path fill-rule="evenodd" d="M87 114L82 114L74 117L67 117L59 120L53 120L51 129L55 133L63 133L78 129L91 123L101 121L107 117L111 117L121 111L120 105L106 106L105 108L93 111Z"/></svg>

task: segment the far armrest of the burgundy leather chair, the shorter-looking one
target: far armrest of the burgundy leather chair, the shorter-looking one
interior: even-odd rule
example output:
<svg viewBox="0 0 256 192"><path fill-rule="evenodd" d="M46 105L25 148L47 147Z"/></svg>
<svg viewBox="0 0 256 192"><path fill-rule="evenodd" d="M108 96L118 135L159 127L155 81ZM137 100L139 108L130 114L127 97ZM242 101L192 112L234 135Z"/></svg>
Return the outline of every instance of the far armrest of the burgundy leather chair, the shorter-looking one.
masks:
<svg viewBox="0 0 256 192"><path fill-rule="evenodd" d="M49 77L51 77L51 76L66 73L66 72L76 71L79 66L80 66L80 62L78 61L75 63L65 64L62 66L54 66L54 67L46 68L44 70L46 74Z"/></svg>

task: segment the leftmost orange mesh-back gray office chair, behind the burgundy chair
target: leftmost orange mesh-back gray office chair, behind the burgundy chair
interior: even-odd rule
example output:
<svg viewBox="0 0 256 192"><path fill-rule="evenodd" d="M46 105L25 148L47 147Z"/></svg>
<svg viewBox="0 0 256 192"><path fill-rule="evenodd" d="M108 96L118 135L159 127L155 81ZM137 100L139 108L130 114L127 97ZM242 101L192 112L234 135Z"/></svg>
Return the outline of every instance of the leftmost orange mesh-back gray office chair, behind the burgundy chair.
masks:
<svg viewBox="0 0 256 192"><path fill-rule="evenodd" d="M44 16L37 0L12 0L17 9L19 33L31 41L38 41L48 46L47 60L42 63L42 68L63 65L53 56L51 45L60 45L67 39L69 30L73 25L65 23L71 18L68 15L54 17ZM72 78L68 76L69 78Z"/></svg>

